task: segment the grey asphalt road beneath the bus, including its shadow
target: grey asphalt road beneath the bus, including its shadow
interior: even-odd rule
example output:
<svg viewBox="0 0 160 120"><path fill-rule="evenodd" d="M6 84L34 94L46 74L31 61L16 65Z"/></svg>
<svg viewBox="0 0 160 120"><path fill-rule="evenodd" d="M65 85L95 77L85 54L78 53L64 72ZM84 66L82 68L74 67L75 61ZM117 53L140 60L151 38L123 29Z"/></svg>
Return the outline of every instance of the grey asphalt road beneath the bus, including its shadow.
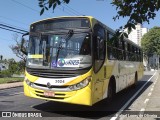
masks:
<svg viewBox="0 0 160 120"><path fill-rule="evenodd" d="M103 100L92 107L81 106L81 105L73 105L66 103L58 103L58 102L49 102L39 99L29 98L23 95L23 88L10 88L0 90L0 111L11 111L11 112L42 112L42 118L37 119L45 119L45 120L53 120L53 119L61 119L61 120L81 120L81 119L112 119L120 109L122 109L126 103L130 100L129 104L126 105L125 111L140 111L141 103L145 99L145 95L148 94L148 88L153 84L154 77L149 81L144 88L135 96L134 99L131 98L139 91L139 89L149 80L154 72L145 72L142 80L138 81L137 87L127 88L121 92L119 92L114 100L107 104L106 100ZM44 117L48 116L48 117ZM124 116L122 116L124 117ZM2 118L0 119L22 119L22 118ZM23 118L23 119L31 119L31 118ZM35 119L35 118L32 118Z"/></svg>

